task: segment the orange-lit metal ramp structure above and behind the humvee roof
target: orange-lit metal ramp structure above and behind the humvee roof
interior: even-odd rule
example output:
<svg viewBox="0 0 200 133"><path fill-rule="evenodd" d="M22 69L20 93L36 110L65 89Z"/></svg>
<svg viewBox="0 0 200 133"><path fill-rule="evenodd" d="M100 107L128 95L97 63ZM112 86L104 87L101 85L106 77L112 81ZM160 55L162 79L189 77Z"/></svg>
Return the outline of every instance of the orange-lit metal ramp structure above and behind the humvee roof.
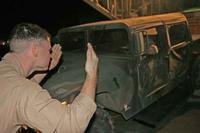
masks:
<svg viewBox="0 0 200 133"><path fill-rule="evenodd" d="M83 0L85 3L110 19L123 19L138 16L178 11L181 0ZM170 8L169 8L170 7Z"/></svg>

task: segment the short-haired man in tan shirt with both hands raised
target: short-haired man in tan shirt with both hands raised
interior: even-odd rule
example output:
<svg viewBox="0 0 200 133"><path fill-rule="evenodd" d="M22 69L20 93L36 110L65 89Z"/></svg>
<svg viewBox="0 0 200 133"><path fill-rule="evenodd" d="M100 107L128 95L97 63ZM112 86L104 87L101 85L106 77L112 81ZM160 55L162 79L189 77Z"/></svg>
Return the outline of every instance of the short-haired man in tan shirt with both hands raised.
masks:
<svg viewBox="0 0 200 133"><path fill-rule="evenodd" d="M11 33L10 52L0 62L0 130L16 133L23 125L43 133L81 133L96 110L98 57L88 44L86 77L80 94L68 105L52 99L39 83L61 57L42 27L18 24Z"/></svg>

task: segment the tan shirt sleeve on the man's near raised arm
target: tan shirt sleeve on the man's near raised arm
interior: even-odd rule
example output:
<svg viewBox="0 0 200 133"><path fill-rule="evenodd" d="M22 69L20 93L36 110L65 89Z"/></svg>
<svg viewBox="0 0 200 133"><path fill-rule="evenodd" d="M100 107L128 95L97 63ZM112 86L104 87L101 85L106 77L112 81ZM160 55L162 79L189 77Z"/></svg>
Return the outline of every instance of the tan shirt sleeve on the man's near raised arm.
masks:
<svg viewBox="0 0 200 133"><path fill-rule="evenodd" d="M71 104L63 105L38 84L33 83L30 88L22 93L18 105L20 123L43 133L85 131L96 110L96 104L89 96L80 93Z"/></svg>

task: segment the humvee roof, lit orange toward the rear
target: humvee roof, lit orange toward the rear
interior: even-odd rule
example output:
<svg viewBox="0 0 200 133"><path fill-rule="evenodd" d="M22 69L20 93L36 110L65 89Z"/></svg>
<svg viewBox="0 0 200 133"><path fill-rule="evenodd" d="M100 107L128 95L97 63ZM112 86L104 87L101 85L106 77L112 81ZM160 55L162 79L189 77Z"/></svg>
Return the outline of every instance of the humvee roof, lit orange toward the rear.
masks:
<svg viewBox="0 0 200 133"><path fill-rule="evenodd" d="M167 13L167 14L159 14L153 16L144 16L144 17L136 17L136 18L126 18L126 19L119 19L119 20L105 20L99 22L92 22L77 26L72 26L72 28L82 28L88 26L97 26L97 25L109 25L109 24L125 24L128 27L138 27L141 25L152 25L155 23L176 23L186 21L186 17L181 12L175 13Z"/></svg>

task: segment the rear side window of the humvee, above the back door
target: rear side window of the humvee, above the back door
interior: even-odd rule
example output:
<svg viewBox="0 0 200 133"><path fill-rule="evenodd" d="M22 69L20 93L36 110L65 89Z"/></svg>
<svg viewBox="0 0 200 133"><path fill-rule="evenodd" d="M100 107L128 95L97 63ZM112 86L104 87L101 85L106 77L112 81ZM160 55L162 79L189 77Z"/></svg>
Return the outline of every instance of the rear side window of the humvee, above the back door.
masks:
<svg viewBox="0 0 200 133"><path fill-rule="evenodd" d="M168 28L170 42L172 46L189 40L189 34L186 23L169 25Z"/></svg>

